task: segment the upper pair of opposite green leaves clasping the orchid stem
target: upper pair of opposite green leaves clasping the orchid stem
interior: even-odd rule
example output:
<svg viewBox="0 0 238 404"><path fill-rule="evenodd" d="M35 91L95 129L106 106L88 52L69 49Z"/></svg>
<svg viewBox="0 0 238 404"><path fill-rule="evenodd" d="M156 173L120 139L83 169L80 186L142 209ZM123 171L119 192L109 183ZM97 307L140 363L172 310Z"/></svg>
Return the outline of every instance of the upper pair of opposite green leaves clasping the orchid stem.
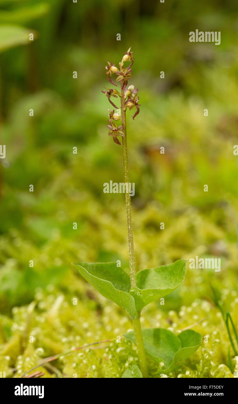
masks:
<svg viewBox="0 0 238 404"><path fill-rule="evenodd" d="M116 263L77 263L77 271L102 296L114 301L130 314L132 320L151 301L168 295L183 282L187 261L153 269L142 269L136 274L136 287L131 288L130 276Z"/></svg>

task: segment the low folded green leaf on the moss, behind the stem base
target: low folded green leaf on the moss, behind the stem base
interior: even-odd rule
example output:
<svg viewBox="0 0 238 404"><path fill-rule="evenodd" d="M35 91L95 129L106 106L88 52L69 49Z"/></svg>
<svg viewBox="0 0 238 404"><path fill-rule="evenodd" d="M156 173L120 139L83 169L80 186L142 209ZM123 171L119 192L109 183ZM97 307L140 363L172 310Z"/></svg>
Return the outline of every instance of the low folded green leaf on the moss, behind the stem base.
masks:
<svg viewBox="0 0 238 404"><path fill-rule="evenodd" d="M193 330L182 331L176 336L165 328L145 328L142 335L147 355L157 363L164 362L162 371L166 372L189 358L202 341L202 335ZM127 332L125 338L136 342L134 331Z"/></svg>

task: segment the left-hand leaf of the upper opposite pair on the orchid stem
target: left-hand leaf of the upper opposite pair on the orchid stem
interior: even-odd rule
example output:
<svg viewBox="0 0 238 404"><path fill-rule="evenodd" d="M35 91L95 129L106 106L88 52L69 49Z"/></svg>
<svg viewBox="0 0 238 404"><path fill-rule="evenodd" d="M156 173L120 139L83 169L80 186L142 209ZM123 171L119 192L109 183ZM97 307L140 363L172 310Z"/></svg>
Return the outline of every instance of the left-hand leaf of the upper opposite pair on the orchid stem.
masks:
<svg viewBox="0 0 238 404"><path fill-rule="evenodd" d="M138 316L135 301L130 295L130 276L114 262L108 263L77 263L73 264L102 296L114 301L130 314L132 319Z"/></svg>

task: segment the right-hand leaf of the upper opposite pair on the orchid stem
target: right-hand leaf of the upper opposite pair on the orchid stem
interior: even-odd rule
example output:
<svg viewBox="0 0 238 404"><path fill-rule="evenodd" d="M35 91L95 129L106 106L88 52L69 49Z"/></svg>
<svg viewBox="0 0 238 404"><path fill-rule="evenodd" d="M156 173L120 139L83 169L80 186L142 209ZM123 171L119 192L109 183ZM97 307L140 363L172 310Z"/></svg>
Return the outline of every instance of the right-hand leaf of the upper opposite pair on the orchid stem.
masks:
<svg viewBox="0 0 238 404"><path fill-rule="evenodd" d="M187 261L179 259L172 264L153 269L142 269L136 274L137 286L130 290L137 311L153 300L166 296L183 282Z"/></svg>

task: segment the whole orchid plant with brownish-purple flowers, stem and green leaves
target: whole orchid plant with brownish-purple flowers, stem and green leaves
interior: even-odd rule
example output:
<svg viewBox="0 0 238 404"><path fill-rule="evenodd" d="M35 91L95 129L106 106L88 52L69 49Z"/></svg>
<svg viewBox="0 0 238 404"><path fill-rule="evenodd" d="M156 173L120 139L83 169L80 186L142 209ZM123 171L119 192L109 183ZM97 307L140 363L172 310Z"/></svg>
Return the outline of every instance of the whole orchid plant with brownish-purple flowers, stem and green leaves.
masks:
<svg viewBox="0 0 238 404"><path fill-rule="evenodd" d="M128 67L124 63L129 62ZM77 263L74 264L77 271L87 282L96 288L104 297L115 302L123 308L131 317L134 331L127 332L125 338L136 343L138 351L139 367L136 365L127 368L123 378L149 377L147 356L159 364L159 372L170 372L192 355L201 343L201 335L191 329L184 330L178 336L165 328L141 329L140 313L151 301L160 299L178 286L185 278L187 261L180 259L172 264L164 265L153 269L142 269L136 271L133 230L132 230L132 209L129 193L129 164L127 153L127 131L126 111L136 108L133 120L140 112L138 88L133 85L127 87L128 80L132 78L132 57L131 48L127 50L119 63L107 62L106 75L110 84L117 86L112 80L112 75L117 75L116 82L120 82L121 93L115 88L104 87L102 93L115 109L108 109L108 135L123 149L124 182L127 191L125 192L125 208L127 219L129 267L128 275L117 263ZM120 98L121 111L111 100L111 97ZM115 122L121 120L121 125ZM115 122L114 122L115 121ZM118 137L122 138L122 143Z"/></svg>

